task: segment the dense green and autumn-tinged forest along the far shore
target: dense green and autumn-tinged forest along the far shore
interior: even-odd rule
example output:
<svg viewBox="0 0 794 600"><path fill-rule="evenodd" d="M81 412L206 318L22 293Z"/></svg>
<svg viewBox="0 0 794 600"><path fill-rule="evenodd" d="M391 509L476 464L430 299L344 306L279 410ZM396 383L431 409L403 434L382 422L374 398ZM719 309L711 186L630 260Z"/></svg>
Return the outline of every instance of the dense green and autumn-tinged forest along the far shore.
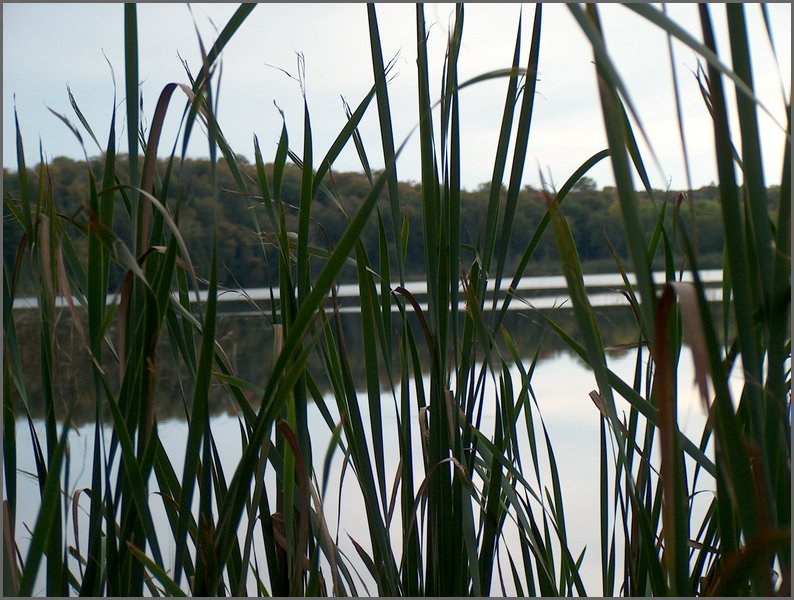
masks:
<svg viewBox="0 0 794 600"><path fill-rule="evenodd" d="M91 161L95 177L101 174L102 159ZM126 157L119 157L117 173L124 182L127 169ZM255 166L241 160L243 176L248 178L249 197L242 196L235 190L234 181L224 163L217 167L217 194L211 183L211 165L208 160L186 159L175 165L168 189L169 209L177 221L190 252L190 257L197 267L199 275L208 273L213 228L217 231L218 264L221 283L228 287L264 287L277 283L275 276L276 258L272 245L268 243L268 221L264 215L256 182ZM161 161L159 172L165 172L165 161ZM86 163L69 158L58 157L47 165L47 186L51 190L58 212L75 223L87 222L86 202L88 198L88 181ZM272 165L267 166L272 173ZM30 169L30 181L37 182L39 167ZM287 226L291 230L297 228L297 205L300 196L301 175L297 166L287 167L282 182L282 201L288 207ZM362 173L332 173L327 179L325 189L321 190L312 203L312 239L320 249L332 248L339 239L347 223L348 215L352 215L360 206L370 190L370 181ZM476 190L463 191L461 194L461 238L463 244L471 243L478 235L483 214L488 202L490 184L483 184ZM403 219L408 227L408 244L406 252L406 276L418 276L423 273L423 240L422 240L422 208L420 185L415 182L399 184L401 200L406 207ZM503 197L506 194L502 190ZM6 265L13 264L14 256L20 241L21 228L12 218L8 203L19 201L19 176L16 172L3 169L3 256ZM719 189L706 186L686 195L686 201L680 210L673 210L678 193L672 190L658 190L653 198L647 193L639 194L640 214L646 234L650 235L657 221L659 210L667 203L665 219L668 232L674 231L672 220L678 218L694 233L699 256L700 267L717 267L722 265L723 227L720 217ZM779 188L772 187L767 191L770 214L777 206ZM117 234L125 240L131 237L131 221L120 194L116 194L117 207L115 227ZM216 203L217 197L217 203ZM535 231L538 223L546 212L546 199L541 190L525 186L520 192L518 208L514 218L513 235L508 241L509 270L517 264L527 242ZM614 270L614 258L610 244L621 259L625 259L625 247L620 222L620 208L614 188L597 189L592 179L584 178L566 197L563 212L568 220L582 259L583 266L589 272ZM380 215L391 231L386 192L383 192ZM691 226L694 217L695 227ZM255 219L256 218L256 219ZM261 230L256 231L258 221ZM402 224L401 224L402 225ZM372 226L366 228L363 243L372 264L378 264L378 227L372 220ZM607 241L608 240L608 241ZM501 240L497 240L501 243ZM676 248L680 254L680 244ZM84 247L82 248L85 249ZM78 250L81 248L78 246ZM658 259L661 256L657 257ZM474 257L462 254L462 259L471 262ZM316 261L321 266L322 258ZM464 264L462 267L466 267ZM551 232L544 238L530 262L529 274L549 274L559 271L559 260ZM342 272L342 277L354 279L354 271ZM113 275L116 283L121 273ZM23 289L24 280L19 282Z"/></svg>

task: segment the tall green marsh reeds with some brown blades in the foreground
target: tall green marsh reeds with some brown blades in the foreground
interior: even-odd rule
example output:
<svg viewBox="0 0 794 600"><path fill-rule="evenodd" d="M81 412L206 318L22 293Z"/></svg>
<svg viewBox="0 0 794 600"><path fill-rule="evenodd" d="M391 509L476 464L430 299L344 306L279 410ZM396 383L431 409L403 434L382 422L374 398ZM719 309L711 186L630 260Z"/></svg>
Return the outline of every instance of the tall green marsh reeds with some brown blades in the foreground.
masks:
<svg viewBox="0 0 794 600"><path fill-rule="evenodd" d="M631 124L637 115L610 60L596 5L568 10L593 49L608 147L583 157L558 190L542 191L545 212L528 232L514 231L513 223L543 52L541 5L533 9L529 48L521 47L527 26L521 20L511 64L466 81L458 78L464 7L457 5L438 98L418 5L419 122L401 143L392 126L391 65L376 7L368 5L370 91L348 107L346 125L321 158L304 97L301 154L291 148L285 124L272 157L254 140L253 171L242 168L216 119L216 69L254 5L241 5L208 51L202 44L203 63L188 73L189 83L162 90L148 132L140 127L136 7L125 5L126 159L116 147L114 111L105 151L85 170L88 193L79 212L56 210L44 160L31 177L17 123L18 192L4 198L20 228L14 260L3 263L4 593L30 595L44 585L47 595L91 596L790 595L790 122L770 217L757 135L764 99L753 89L746 8L725 7L733 70L714 42L711 7L700 7L702 42L653 6L626 9L703 60L699 77L713 118L720 213L731 232L716 317L701 277L695 223L680 218L686 198L660 198L648 182L637 143L644 132ZM460 95L494 79L505 95L488 202L479 230L464 241ZM738 143L728 126L726 83L736 92ZM186 98L181 155L174 144L158 161L165 115L179 110L180 97ZM74 109L95 137L76 103ZM375 150L358 130L368 111L379 123ZM252 239L264 260L275 262L268 263L275 276L260 315L272 332L262 340L272 346L272 365L258 381L240 376L219 333L221 236L211 240L207 268L197 269L181 207L169 196L197 124L207 132L216 206L223 164L236 197L250 209ZM351 143L369 188L346 211L331 168ZM408 143L420 149L420 232L408 226L397 179L396 161ZM383 171L370 169L373 151ZM614 254L614 270L634 315L636 339L624 344L636 355L628 380L607 360L608 332L596 318L565 217L566 198L601 161L613 168L627 251ZM300 173L296 207L284 200L288 168ZM650 235L641 226L635 178L654 207ZM345 221L328 247L312 238L320 196L333 200ZM377 230L376 251L362 241L365 228ZM589 366L597 383L583 401L592 401L587 406L600 433L600 486L592 491L599 499L593 508L600 526L598 589L582 576L595 552L574 547L566 529L554 440L532 385L541 350L528 359L507 318L511 304L522 300L518 282L544 235L556 243L575 328L563 326L555 312L537 311L535 319ZM520 252L510 255L517 240ZM421 302L409 291L409 252L422 265ZM653 271L660 263L661 280ZM343 270L358 287L362 364L351 364L343 327L337 296ZM37 300L36 334L25 339L13 310L23 274ZM114 294L118 302L110 300ZM57 305L59 298L66 306ZM95 423L91 483L72 497L64 491L73 475L68 440L75 401L60 385L59 311L71 316L75 352L90 370ZM35 382L21 361L22 347L31 343L40 362ZM699 437L685 435L679 422L682 351L693 353L708 415ZM174 391L188 422L182 461L169 455L158 433L164 360L187 378ZM729 378L738 370L744 383L737 393ZM34 388L43 404L41 428L30 410ZM219 390L239 424L240 455L231 469L218 450L228 440L218 439L210 421L210 399ZM327 425L328 447L318 447L310 429L310 406ZM387 408L396 414L393 422L384 418ZM494 413L492 425L484 411ZM17 437L23 431L17 423L29 425L29 436ZM388 427L396 428L396 469L387 466ZM34 449L40 502L24 555L16 527L23 444ZM344 464L338 489L352 481L363 499L366 538L342 539L326 514L337 456ZM162 526L155 504L165 515Z"/></svg>

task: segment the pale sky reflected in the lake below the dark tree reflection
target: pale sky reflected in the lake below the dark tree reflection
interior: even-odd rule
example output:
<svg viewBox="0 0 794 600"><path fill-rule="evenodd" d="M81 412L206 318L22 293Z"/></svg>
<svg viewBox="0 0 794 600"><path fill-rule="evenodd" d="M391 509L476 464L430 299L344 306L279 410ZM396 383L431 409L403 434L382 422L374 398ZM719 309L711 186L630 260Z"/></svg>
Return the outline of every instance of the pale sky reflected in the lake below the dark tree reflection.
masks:
<svg viewBox="0 0 794 600"><path fill-rule="evenodd" d="M612 354L609 358L609 366L618 375L624 379L631 380L634 372L634 364L636 360L635 352L624 352L620 354ZM734 373L738 370L735 369ZM516 390L520 386L520 375L517 369L513 371L514 383ZM697 397L696 389L693 381L693 369L691 362L691 355L688 350L684 350L681 355L681 364L679 369L679 410L681 427L684 431L688 432L693 439L699 439L700 431L704 420L703 410L700 406L700 400ZM734 383L740 384L741 382L734 377ZM489 384L492 385L492 384ZM643 382L644 385L644 382ZM548 357L542 358L541 362L535 370L532 378L532 388L537 398L538 407L547 427L551 442L553 445L557 467L560 472L562 494L565 507L566 527L568 531L569 542L572 551L575 555L586 546L587 552L582 567L582 578L585 583L586 589L590 594L600 594L600 541L599 541L599 419L598 411L590 400L588 393L590 390L595 389L595 380L592 373L587 369L586 365L577 357L569 353L556 353ZM491 388L492 389L492 388ZM734 386L734 389L738 389ZM395 390L399 398L399 390ZM332 398L327 398L329 402L329 409L332 415L336 418L338 411L333 404ZM365 424L368 423L369 415L367 408L366 394L359 394L360 406L363 412L363 419ZM312 427L312 445L314 452L314 463L317 477L322 478L322 465L328 450L330 440L330 433L328 428L319 414L319 411L311 405L310 408L310 423ZM387 490L391 490L394 483L394 474L398 466L399 456L397 453L398 442L396 437L396 416L394 412L394 401L391 393L386 393L382 397L383 407L383 423L384 423L384 440L383 446L387 452L386 455L386 471L387 471ZM493 408L489 411L486 408L483 412L482 429L485 432L490 432L493 429L494 413ZM533 407L534 410L535 407ZM618 411L626 410L627 405L618 397ZM414 425L414 433L418 431L417 416L415 408L412 410L412 425ZM535 427L537 435L542 436L542 428L537 417L537 410L534 410ZM523 425L523 416L520 419ZM44 426L42 421L36 422L39 435L44 433ZM368 429L368 425L365 425ZM240 433L238 420L233 415L221 414L212 418L212 430L218 444L222 465L225 471L227 480L231 478L234 468L240 456ZM160 438L165 446L165 449L170 457L174 468L177 473L181 473L182 464L184 462L184 444L187 439L187 426L184 422L178 420L163 421L159 424L158 431ZM109 435L109 430L105 429L106 435ZM368 438L371 442L371 434L368 431ZM29 543L29 534L25 530L25 525L31 529L33 528L37 503L38 503L38 485L34 478L24 474L24 471L33 473L35 466L33 462L32 449L28 440L29 432L27 431L27 424L20 422L17 425L17 452L18 452L18 465L20 469L20 476L18 477L18 501L17 501L17 540L23 557L26 555L27 546ZM541 491L537 489L537 481L535 480L532 469L530 468L530 453L527 441L526 428L521 427L519 432L519 439L521 444L521 453L523 464L525 465L524 476L533 486L536 492ZM422 473L420 466L421 449L419 447L418 439L414 439L414 457L415 457L415 487L421 483ZM542 485L548 488L551 492L551 478L548 472L548 461L546 458L545 444L542 437L539 438L539 452L541 463L541 477L543 479ZM71 453L71 481L69 496L71 497L75 489L86 487L90 484L90 462L93 446L93 425L88 424L80 427L70 436L70 453ZM657 443L658 448L658 443ZM655 456L658 460L658 454ZM343 510L341 514L338 511L340 502L338 501L339 495L339 472L342 464L342 456L339 451L336 452L333 458L331 475L328 481L328 488L326 490L324 499L325 517L328 522L329 529L332 536L337 535L337 522L338 540L342 548L346 551L349 558L354 559L354 565L359 572L364 575L365 570L358 561L352 544L348 539L348 535L352 536L359 542L365 549L370 548L369 536L366 529L366 520L364 515L363 501L358 493L357 484L354 475L348 469L344 485L342 489L341 506ZM322 481L318 482L322 486ZM154 477L151 479L151 490L155 489ZM272 469L268 470L266 475L266 485L269 490L273 490L274 480ZM701 479L699 487L702 488L704 480ZM162 510L162 502L156 494L150 490L150 499L156 522L162 523L162 527L167 527L164 520L164 511ZM703 501L707 501L707 494L704 496ZM198 496L195 498L196 505L198 503ZM87 511L88 499L85 496L81 497L81 506ZM537 504L533 504L533 510L539 510ZM69 538L72 537L72 523L71 511L69 511ZM539 513L536 514L538 516ZM85 551L87 546L87 514L85 511L80 516L80 545L81 549ZM695 524L696 522L693 522ZM392 532L394 537L392 543L395 550L399 550L399 531L400 531L400 515L399 509L395 510L392 522ZM241 540L244 538L245 530L241 529ZM512 547L517 540L517 534L513 526L508 525L505 534L505 539ZM254 539L259 540L259 528L254 528ZM161 550L163 551L164 560L173 560L175 548L170 535L163 535L161 538ZM261 548L261 546L260 546ZM620 546L618 547L620 548ZM258 559L264 565L264 555L259 552ZM502 556L502 560L506 561L506 555ZM503 567L508 569L507 563L503 563ZM75 571L77 570L76 564L73 565ZM618 568L620 566L618 565ZM365 577L366 579L366 577ZM41 571L41 586L36 589L37 592L43 592L43 570ZM253 585L253 579L252 585ZM492 593L500 592L498 579L494 580L494 587ZM505 582L506 590L508 593L513 589L508 582ZM255 590L254 587L249 588L249 593ZM377 589L369 586L370 594L376 593ZM358 592L360 594L366 591L359 585Z"/></svg>

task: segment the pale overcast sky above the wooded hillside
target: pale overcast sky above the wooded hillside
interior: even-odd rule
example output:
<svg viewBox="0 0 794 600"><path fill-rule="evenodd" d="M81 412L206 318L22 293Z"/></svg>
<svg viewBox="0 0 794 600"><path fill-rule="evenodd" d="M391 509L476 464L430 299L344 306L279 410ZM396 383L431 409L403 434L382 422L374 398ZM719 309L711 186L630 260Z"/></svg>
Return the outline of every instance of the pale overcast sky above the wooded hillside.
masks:
<svg viewBox="0 0 794 600"><path fill-rule="evenodd" d="M201 65L196 29L209 47L213 23L221 29L236 5L194 4L193 18L184 4L139 4L138 35L140 79L145 118L151 119L157 98L169 82L187 82L181 58L195 73ZM463 49L459 78L510 66L519 14L523 8L522 66L527 62L534 5L469 4L465 8ZM779 123L785 123L781 83L788 95L791 85L791 5L770 4L773 38L780 71L775 66L758 5L747 5L746 15L754 58L758 97ZM725 9L710 6L718 30L718 47L727 58ZM440 92L447 30L453 6L428 4L433 98ZM628 87L661 169L646 164L654 187L686 187L677 133L670 58L666 37L643 18L619 5L600 5L607 48ZM671 4L669 15L700 38L697 7ZM395 137L399 144L418 120L416 92L415 8L410 4L378 4L384 55L398 55L396 77L390 84ZM262 4L245 21L223 54L219 121L232 148L253 157L253 136L259 138L266 161L273 159L281 128L280 107L287 120L292 148L300 153L303 105L299 85L279 69L296 73L296 53L305 57L306 92L314 133L314 154L319 160L345 122L340 98L356 106L372 86L366 7L364 4ZM694 71L696 55L674 44L681 85L693 184L716 180L712 134ZM3 166L15 168L14 105L28 165L38 162L41 140L45 158L81 158L82 150L71 132L47 107L74 123L67 84L102 144L106 143L117 82L117 136L126 151L123 130L124 60L123 7L120 4L9 4L3 5ZM181 57L181 58L180 58ZM539 186L539 171L561 185L589 156L606 147L597 97L592 51L564 5L543 9L539 82L530 132L524 184ZM782 75L780 74L782 73ZM782 82L781 82L782 77ZM463 185L472 189L489 181L504 103L506 80L499 79L461 92ZM14 100L16 98L16 100ZM275 104L275 105L274 105ZM176 135L182 99L172 105L161 155L167 154ZM767 182L780 179L785 139L766 115L760 116ZM375 104L362 124L362 135L374 167L382 166ZM736 128L735 128L736 130ZM194 132L190 155L206 156L206 139ZM84 136L88 154L98 154ZM414 136L414 141L416 137ZM738 136L737 136L738 143ZM335 164L337 171L360 170L352 147ZM604 163L591 175L600 186L612 183ZM402 180L419 180L418 143L408 146L398 162Z"/></svg>

